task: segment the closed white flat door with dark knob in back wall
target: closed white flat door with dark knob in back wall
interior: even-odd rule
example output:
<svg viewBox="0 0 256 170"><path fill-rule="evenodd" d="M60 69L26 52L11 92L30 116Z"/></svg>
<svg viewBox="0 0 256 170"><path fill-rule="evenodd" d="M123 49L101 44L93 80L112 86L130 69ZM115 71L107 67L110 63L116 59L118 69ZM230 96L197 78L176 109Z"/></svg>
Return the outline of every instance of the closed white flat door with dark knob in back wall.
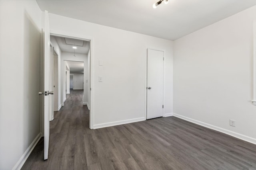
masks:
<svg viewBox="0 0 256 170"><path fill-rule="evenodd" d="M163 116L164 52L147 49L147 119Z"/></svg>

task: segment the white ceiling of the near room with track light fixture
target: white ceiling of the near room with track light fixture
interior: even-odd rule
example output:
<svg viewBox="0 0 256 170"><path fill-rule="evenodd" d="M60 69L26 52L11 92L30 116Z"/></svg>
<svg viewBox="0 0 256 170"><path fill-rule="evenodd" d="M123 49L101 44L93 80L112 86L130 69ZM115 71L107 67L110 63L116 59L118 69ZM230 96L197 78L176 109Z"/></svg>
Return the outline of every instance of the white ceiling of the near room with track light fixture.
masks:
<svg viewBox="0 0 256 170"><path fill-rule="evenodd" d="M42 11L175 40L256 5L256 0L36 0Z"/></svg>

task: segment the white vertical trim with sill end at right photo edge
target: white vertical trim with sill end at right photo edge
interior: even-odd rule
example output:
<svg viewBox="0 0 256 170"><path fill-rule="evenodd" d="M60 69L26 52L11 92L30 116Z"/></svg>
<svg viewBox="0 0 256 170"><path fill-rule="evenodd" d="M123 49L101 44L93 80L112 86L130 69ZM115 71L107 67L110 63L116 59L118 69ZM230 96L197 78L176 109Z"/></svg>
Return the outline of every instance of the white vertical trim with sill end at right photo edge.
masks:
<svg viewBox="0 0 256 170"><path fill-rule="evenodd" d="M256 20L253 22L253 100L256 105Z"/></svg>

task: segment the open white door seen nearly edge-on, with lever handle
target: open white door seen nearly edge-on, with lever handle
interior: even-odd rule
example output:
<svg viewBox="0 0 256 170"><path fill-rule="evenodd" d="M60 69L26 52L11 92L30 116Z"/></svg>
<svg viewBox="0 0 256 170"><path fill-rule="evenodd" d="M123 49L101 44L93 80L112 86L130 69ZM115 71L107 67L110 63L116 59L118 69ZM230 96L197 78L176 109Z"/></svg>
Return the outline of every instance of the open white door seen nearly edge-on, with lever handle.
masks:
<svg viewBox="0 0 256 170"><path fill-rule="evenodd" d="M48 11L44 16L44 160L48 159L50 138L50 27Z"/></svg>

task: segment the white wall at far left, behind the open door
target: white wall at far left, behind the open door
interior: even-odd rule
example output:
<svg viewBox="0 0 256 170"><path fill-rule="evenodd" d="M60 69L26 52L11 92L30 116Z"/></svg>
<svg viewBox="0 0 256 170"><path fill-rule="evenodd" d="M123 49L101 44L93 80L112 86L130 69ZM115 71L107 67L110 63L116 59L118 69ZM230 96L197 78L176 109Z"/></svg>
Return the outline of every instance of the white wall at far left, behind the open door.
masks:
<svg viewBox="0 0 256 170"><path fill-rule="evenodd" d="M1 170L18 166L40 135L40 21L35 0L0 0Z"/></svg>

